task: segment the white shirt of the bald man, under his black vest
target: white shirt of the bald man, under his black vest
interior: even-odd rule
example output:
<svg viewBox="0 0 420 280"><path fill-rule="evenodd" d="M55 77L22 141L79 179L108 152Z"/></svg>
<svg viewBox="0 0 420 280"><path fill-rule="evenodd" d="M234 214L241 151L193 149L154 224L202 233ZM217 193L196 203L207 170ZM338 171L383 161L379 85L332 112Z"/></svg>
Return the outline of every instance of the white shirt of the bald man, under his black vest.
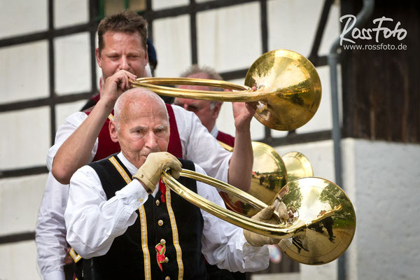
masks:
<svg viewBox="0 0 420 280"><path fill-rule="evenodd" d="M132 174L137 168L123 155L118 158ZM195 165L196 172L204 170ZM153 197L158 193L155 188ZM167 189L169 191L169 189ZM215 188L197 182L197 194L224 207ZM113 240L123 235L137 219L136 210L148 200L148 193L137 180L118 190L110 200L97 173L85 166L73 174L65 211L67 241L83 258L105 255ZM269 264L267 246L253 247L246 242L242 229L201 210L204 228L202 253L211 264L231 271L257 271Z"/></svg>

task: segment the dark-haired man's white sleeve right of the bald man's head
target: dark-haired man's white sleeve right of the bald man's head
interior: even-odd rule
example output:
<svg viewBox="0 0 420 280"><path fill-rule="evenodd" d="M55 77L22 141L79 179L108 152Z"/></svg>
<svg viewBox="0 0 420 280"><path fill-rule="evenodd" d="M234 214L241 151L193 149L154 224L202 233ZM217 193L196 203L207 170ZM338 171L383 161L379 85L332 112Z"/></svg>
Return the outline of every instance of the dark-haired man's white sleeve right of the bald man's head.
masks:
<svg viewBox="0 0 420 280"><path fill-rule="evenodd" d="M209 176L228 183L232 153L226 151L211 136L194 113L180 106L172 107L181 139L183 158L200 165Z"/></svg>

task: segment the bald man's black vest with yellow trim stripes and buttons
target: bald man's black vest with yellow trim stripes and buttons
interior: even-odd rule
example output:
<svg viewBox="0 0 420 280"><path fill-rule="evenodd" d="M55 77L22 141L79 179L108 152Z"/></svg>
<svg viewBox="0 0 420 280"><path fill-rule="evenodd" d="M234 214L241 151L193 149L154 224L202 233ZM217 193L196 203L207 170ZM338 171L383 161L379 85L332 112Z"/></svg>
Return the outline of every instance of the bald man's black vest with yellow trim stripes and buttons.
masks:
<svg viewBox="0 0 420 280"><path fill-rule="evenodd" d="M193 162L179 159L184 169L195 170ZM116 163L117 162L117 163ZM116 155L92 162L107 199L127 185L116 165L131 174ZM124 173L123 172L123 173ZM129 179L129 180L130 180ZM183 186L197 193L195 181L181 177ZM137 210L136 222L114 239L106 255L92 258L93 279L206 279L201 253L203 218L200 209L167 188L165 200L161 191ZM162 271L155 246L165 245L166 261Z"/></svg>

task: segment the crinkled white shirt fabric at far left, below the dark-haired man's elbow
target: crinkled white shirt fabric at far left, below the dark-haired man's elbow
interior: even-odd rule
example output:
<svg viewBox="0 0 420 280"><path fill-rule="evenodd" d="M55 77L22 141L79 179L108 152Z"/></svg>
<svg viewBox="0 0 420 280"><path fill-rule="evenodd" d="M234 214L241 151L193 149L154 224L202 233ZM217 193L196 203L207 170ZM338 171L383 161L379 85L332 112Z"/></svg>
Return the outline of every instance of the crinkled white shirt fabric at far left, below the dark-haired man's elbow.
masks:
<svg viewBox="0 0 420 280"><path fill-rule="evenodd" d="M69 185L62 185L48 174L35 228L36 259L43 279L64 280L66 256L66 209Z"/></svg>

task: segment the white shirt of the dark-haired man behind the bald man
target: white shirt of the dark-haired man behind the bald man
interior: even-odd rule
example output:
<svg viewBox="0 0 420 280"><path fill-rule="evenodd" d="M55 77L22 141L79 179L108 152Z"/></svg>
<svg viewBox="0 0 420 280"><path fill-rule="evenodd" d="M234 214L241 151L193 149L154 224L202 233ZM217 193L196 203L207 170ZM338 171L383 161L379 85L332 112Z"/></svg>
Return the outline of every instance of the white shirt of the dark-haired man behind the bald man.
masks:
<svg viewBox="0 0 420 280"><path fill-rule="evenodd" d="M209 134L206 127L194 113L179 106L172 106L176 118L183 158L191 160L206 171L209 176L221 181L228 181L229 160L231 153L225 151L218 141ZM55 145L50 148L47 156L47 167L51 170L52 160L59 147L85 121L87 115L83 112L71 114L55 134ZM90 162L97 152L98 139L90 154ZM49 176L45 193L41 202L36 223L36 245L38 267L43 279L64 279L64 256L66 248L66 229L64 225L64 210L69 193L69 185L58 183ZM58 203L59 202L59 203ZM59 248L59 244L62 247ZM60 276L57 276L57 275Z"/></svg>

